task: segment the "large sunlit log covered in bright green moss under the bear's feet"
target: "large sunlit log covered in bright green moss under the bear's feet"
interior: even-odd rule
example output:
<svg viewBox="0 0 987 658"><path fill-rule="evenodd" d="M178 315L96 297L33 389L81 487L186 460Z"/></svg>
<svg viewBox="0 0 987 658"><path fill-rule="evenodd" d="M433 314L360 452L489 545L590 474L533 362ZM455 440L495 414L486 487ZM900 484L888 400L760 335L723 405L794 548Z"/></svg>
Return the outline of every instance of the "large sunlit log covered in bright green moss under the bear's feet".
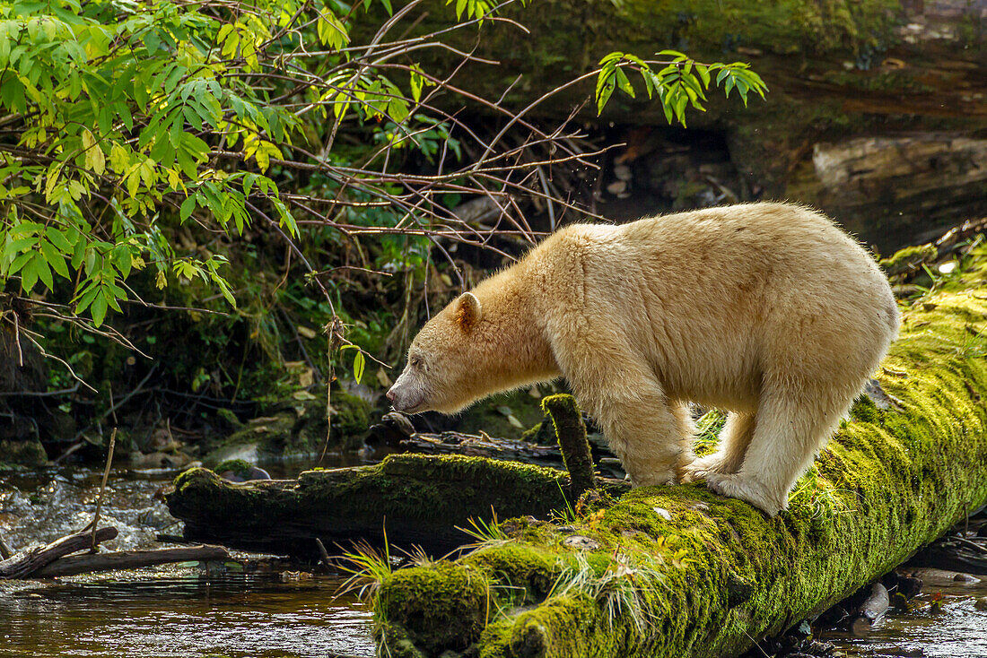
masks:
<svg viewBox="0 0 987 658"><path fill-rule="evenodd" d="M483 548L383 580L381 652L736 656L886 573L987 501L987 249L971 259L903 309L877 374L886 408L854 405L789 510L693 483L565 526L504 522Z"/></svg>

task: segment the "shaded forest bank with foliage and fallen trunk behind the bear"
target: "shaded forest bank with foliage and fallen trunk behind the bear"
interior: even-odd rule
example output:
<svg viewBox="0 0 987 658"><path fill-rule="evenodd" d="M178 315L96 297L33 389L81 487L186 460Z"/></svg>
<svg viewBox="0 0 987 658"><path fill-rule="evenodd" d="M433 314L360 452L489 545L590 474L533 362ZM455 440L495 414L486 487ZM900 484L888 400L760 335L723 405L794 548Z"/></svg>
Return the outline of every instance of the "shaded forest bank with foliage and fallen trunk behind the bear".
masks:
<svg viewBox="0 0 987 658"><path fill-rule="evenodd" d="M0 461L96 458L111 426L134 460L319 452L330 383L355 447L428 315L571 221L789 198L885 256L925 242L987 213L985 13L14 3ZM704 81L720 61L764 100L742 67ZM422 421L507 434L536 402Z"/></svg>

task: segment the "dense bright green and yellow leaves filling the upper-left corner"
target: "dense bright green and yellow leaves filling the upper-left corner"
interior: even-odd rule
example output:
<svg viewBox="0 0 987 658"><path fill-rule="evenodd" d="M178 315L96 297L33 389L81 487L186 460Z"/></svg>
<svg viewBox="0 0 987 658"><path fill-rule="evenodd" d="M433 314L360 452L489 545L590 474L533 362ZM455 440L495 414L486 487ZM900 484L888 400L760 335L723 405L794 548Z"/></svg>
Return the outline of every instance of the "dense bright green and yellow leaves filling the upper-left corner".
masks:
<svg viewBox="0 0 987 658"><path fill-rule="evenodd" d="M275 12L268 26L209 9L75 0L0 9L0 276L20 276L22 294L38 281L52 290L57 275L71 282L72 312L99 326L127 299L131 272L151 266L159 287L200 277L234 304L224 258L176 254L163 215L187 222L204 209L242 234L250 200L264 199L297 233L271 179L216 162L240 140L264 172L280 157L274 141L297 127L243 75L289 16Z"/></svg>

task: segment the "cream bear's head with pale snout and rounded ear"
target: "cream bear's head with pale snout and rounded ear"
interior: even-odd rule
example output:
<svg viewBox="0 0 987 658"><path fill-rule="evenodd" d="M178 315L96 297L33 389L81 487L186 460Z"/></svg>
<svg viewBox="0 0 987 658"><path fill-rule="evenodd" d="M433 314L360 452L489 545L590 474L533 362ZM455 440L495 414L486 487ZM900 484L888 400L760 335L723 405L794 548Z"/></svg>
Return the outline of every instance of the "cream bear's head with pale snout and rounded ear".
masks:
<svg viewBox="0 0 987 658"><path fill-rule="evenodd" d="M408 365L387 392L396 410L455 413L482 397L475 391L482 314L480 300L467 292L425 323L408 349Z"/></svg>

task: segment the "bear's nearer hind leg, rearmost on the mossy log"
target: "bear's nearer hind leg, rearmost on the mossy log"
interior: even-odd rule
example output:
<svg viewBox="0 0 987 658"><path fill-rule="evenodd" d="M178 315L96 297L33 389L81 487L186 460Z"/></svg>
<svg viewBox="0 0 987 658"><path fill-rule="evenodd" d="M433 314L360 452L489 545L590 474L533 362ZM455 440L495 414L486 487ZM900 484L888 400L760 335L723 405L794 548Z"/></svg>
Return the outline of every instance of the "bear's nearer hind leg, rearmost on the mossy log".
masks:
<svg viewBox="0 0 987 658"><path fill-rule="evenodd" d="M815 391L797 391L797 398L765 395L740 470L708 473L707 485L722 495L746 500L770 516L788 509L789 491L825 445L849 403Z"/></svg>

